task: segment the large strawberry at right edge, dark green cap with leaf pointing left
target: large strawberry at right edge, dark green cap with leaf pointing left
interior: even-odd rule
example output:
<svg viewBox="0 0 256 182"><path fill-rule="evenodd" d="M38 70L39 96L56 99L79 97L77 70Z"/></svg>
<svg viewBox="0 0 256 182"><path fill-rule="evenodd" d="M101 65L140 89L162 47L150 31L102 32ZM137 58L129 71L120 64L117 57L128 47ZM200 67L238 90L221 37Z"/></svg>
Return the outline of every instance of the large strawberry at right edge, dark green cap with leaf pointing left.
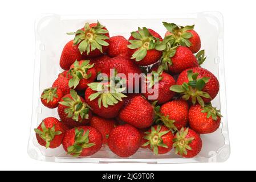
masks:
<svg viewBox="0 0 256 182"><path fill-rule="evenodd" d="M184 100L191 100L193 104L198 102L201 106L212 101L220 89L216 76L200 67L183 71L176 84L170 90L181 93Z"/></svg>

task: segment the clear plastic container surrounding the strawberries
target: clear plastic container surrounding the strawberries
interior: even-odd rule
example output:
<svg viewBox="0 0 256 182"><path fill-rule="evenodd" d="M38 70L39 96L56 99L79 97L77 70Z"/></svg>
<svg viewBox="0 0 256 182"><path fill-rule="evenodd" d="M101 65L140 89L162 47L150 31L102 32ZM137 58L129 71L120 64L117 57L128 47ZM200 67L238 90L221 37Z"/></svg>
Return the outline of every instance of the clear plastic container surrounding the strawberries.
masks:
<svg viewBox="0 0 256 182"><path fill-rule="evenodd" d="M158 32L162 37L166 32L162 22L173 22L178 25L195 24L194 30L201 37L201 49L205 49L207 59L203 68L212 72L220 81L220 92L213 100L213 106L221 109L223 118L220 128L207 135L201 135L203 147L196 158L185 159L174 154L174 150L165 155L156 156L147 149L140 149L129 158L120 158L113 154L107 146L103 146L95 155L86 158L74 158L67 155L60 146L47 149L40 146L36 140L34 128L46 117L58 117L57 109L48 109L40 102L43 89L62 72L59 58L64 45L73 38L66 32L73 32L84 26L86 22L100 21L109 31L110 36L123 35L129 38L130 32L137 27L148 27ZM223 48L223 18L217 12L202 12L196 14L164 14L164 15L44 15L36 20L35 25L35 72L34 92L31 120L31 134L28 153L32 159L47 162L76 163L208 163L224 162L230 155L229 133L227 129L226 91Z"/></svg>

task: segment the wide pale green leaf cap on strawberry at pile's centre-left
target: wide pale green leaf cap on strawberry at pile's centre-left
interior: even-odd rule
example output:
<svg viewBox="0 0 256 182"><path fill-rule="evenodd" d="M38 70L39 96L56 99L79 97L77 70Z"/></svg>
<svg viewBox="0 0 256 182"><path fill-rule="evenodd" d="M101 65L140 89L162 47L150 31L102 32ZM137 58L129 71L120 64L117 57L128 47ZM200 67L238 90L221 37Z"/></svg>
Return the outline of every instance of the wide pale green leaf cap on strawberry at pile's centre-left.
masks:
<svg viewBox="0 0 256 182"><path fill-rule="evenodd" d="M116 87L115 81L112 80L107 83L92 82L88 84L88 86L92 90L96 91L96 93L91 94L88 98L90 101L93 101L97 98L99 108L101 108L101 103L105 108L108 108L108 106L114 106L119 101L123 101L122 98L127 97L122 93L126 88Z"/></svg>

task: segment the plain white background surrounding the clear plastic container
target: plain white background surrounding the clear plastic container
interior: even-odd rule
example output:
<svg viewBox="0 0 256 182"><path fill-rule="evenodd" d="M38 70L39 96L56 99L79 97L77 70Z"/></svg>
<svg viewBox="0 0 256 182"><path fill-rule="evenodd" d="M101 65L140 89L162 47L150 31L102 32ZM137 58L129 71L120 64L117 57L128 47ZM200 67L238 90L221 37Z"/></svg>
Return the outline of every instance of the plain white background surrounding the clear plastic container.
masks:
<svg viewBox="0 0 256 182"><path fill-rule="evenodd" d="M0 169L256 169L254 1L1 1ZM63 164L27 155L34 69L34 20L55 14L165 14L220 11L224 15L227 111L231 155L209 164Z"/></svg>

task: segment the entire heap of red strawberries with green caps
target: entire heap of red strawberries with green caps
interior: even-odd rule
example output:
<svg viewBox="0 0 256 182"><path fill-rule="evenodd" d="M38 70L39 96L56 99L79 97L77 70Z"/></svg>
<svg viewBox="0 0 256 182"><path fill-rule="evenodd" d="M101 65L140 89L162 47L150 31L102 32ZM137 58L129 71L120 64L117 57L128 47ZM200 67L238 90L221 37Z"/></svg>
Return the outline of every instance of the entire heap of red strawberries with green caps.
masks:
<svg viewBox="0 0 256 182"><path fill-rule="evenodd" d="M164 39L146 27L131 32L128 40L110 37L99 22L68 33L74 40L60 57L64 71L40 98L44 106L58 109L59 119L43 119L35 129L38 143L62 145L75 157L91 156L103 145L121 158L139 148L155 155L174 150L184 158L197 156L200 135L220 126L220 110L211 104L219 83L201 68L206 57L194 26L163 25Z"/></svg>

